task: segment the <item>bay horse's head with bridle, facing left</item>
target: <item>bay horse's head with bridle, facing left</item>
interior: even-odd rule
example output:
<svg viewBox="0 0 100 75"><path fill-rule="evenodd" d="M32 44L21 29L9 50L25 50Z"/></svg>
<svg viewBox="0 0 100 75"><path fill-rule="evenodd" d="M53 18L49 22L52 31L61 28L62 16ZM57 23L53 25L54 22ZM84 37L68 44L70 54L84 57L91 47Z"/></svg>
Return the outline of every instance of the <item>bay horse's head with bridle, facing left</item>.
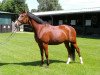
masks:
<svg viewBox="0 0 100 75"><path fill-rule="evenodd" d="M29 23L29 17L27 15L27 12L23 12L19 15L18 19L15 21L15 26L19 27L22 24L28 24Z"/></svg>

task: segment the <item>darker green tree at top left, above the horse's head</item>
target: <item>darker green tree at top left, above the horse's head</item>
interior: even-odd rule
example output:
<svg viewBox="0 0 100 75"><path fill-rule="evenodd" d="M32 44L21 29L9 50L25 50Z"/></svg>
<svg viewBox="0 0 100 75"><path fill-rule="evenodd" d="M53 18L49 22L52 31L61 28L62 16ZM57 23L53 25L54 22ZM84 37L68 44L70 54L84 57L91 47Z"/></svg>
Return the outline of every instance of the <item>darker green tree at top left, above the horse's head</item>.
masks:
<svg viewBox="0 0 100 75"><path fill-rule="evenodd" d="M25 4L25 0L3 0L0 10L12 13L19 13L23 10L28 11L28 6L27 4Z"/></svg>

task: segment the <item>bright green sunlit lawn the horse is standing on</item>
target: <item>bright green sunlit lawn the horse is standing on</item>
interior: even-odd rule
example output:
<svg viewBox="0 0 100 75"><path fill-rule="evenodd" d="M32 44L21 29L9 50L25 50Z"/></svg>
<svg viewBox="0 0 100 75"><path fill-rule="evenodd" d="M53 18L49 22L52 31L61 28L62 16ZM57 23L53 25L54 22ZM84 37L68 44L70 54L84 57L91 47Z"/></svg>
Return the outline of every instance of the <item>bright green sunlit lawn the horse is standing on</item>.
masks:
<svg viewBox="0 0 100 75"><path fill-rule="evenodd" d="M0 42L10 33L0 33ZM50 66L40 67L40 51L33 33L17 33L7 44L0 45L0 75L100 75L100 39L77 37L84 64L66 64L63 44L49 46Z"/></svg>

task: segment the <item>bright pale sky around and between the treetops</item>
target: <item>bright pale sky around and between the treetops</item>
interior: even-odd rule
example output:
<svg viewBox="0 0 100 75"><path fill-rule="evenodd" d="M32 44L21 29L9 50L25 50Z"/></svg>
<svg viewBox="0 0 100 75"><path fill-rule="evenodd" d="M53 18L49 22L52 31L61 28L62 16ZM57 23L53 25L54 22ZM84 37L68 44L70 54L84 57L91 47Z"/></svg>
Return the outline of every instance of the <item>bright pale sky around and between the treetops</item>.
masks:
<svg viewBox="0 0 100 75"><path fill-rule="evenodd" d="M37 0L26 0L26 3L29 10L37 9L39 5ZM59 0L59 3L64 10L100 7L100 0Z"/></svg>

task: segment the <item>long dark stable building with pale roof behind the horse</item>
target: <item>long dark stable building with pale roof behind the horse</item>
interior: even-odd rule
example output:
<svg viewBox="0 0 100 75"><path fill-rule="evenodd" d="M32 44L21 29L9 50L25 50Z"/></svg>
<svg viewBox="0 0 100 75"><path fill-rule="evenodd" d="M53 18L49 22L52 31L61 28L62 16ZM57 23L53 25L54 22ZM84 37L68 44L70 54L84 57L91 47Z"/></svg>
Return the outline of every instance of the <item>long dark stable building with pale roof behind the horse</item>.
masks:
<svg viewBox="0 0 100 75"><path fill-rule="evenodd" d="M84 8L78 10L61 10L48 12L34 12L44 21L56 26L68 24L73 26L78 34L100 35L100 8Z"/></svg>

